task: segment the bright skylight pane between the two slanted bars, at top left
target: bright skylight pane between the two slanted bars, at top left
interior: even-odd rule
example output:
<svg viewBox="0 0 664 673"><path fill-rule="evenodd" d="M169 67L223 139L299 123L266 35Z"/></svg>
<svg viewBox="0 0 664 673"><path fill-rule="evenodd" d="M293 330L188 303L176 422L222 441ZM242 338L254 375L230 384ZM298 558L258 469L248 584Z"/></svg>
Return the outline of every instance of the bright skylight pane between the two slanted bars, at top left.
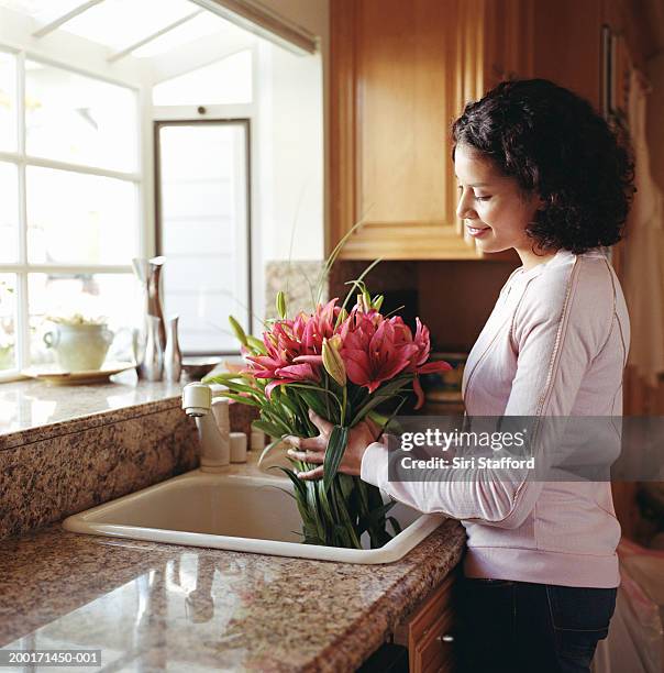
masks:
<svg viewBox="0 0 664 673"><path fill-rule="evenodd" d="M65 23L63 30L118 51L197 9L188 0L104 0Z"/></svg>

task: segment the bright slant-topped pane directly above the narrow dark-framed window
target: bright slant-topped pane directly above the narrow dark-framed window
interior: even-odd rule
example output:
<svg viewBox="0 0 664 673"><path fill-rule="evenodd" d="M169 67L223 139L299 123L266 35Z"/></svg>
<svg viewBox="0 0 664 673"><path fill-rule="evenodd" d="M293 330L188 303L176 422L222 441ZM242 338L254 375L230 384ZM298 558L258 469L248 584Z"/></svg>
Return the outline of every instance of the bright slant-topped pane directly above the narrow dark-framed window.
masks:
<svg viewBox="0 0 664 673"><path fill-rule="evenodd" d="M155 106L252 102L251 49L155 85L152 101Z"/></svg>

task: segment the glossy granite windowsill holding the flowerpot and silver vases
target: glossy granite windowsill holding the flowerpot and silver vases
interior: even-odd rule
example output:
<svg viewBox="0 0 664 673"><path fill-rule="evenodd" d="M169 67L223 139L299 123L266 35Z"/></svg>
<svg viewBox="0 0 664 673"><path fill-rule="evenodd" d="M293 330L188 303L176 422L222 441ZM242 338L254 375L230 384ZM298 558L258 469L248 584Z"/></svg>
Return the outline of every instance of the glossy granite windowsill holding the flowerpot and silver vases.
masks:
<svg viewBox="0 0 664 673"><path fill-rule="evenodd" d="M139 380L133 371L97 385L2 384L0 450L178 407L185 385Z"/></svg>

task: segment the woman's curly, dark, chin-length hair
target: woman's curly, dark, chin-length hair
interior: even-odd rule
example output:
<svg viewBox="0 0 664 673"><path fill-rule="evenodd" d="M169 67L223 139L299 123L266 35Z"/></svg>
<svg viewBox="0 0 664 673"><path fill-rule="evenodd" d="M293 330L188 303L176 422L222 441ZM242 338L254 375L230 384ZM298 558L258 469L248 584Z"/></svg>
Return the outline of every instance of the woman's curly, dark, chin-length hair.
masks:
<svg viewBox="0 0 664 673"><path fill-rule="evenodd" d="M525 229L544 250L582 254L622 238L634 194L634 163L593 106L547 79L501 81L452 124L453 150L469 146L522 195L545 202Z"/></svg>

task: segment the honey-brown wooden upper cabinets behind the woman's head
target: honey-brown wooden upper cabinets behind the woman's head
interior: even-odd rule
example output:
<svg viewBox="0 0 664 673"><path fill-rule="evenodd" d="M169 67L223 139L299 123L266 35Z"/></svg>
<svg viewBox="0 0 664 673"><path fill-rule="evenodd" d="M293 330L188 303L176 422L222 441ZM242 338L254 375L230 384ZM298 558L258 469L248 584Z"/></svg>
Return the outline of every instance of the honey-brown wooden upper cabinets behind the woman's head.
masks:
<svg viewBox="0 0 664 673"><path fill-rule="evenodd" d="M343 258L480 258L455 213L451 124L510 77L598 104L600 2L331 0L328 249L362 221Z"/></svg>

